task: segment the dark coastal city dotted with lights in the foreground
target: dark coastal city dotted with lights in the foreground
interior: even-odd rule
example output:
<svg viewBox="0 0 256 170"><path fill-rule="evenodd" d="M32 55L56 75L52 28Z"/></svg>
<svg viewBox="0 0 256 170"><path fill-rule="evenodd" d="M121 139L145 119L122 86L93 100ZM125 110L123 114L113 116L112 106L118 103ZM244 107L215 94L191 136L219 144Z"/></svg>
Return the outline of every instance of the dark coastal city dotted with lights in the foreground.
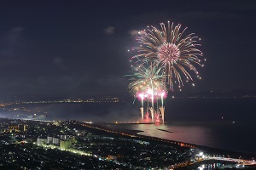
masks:
<svg viewBox="0 0 256 170"><path fill-rule="evenodd" d="M0 132L1 169L193 169L209 157L222 157L204 164L211 168L230 159L200 153L192 144L89 122L1 118ZM245 163L253 160L241 167Z"/></svg>

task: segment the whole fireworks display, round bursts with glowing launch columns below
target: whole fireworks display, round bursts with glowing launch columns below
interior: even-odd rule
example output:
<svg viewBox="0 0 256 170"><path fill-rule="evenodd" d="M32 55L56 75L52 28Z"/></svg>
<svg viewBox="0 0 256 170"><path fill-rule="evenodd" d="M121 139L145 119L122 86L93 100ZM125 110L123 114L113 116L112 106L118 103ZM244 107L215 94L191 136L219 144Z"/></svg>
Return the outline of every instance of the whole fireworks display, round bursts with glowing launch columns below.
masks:
<svg viewBox="0 0 256 170"><path fill-rule="evenodd" d="M178 88L183 87L183 80L193 81L190 72L195 72L197 77L199 72L195 65L201 64L202 53L198 49L201 44L199 37L194 33L183 36L187 28L181 29L181 25L160 23L160 29L151 26L148 30L138 31L141 37L137 38L138 47L131 48L136 51L132 59L136 60L136 73L131 77L129 89L131 94L142 100L141 113L143 118L143 101L151 100L152 107L146 111L146 120L148 120L148 111L151 112L152 122L159 122L160 115L162 122L165 122L164 98L167 94L166 84L170 90L174 90L174 83L177 82ZM129 52L130 50L128 50ZM130 62L131 62L130 60ZM204 59L206 60L206 59ZM192 83L195 86L195 83ZM158 99L161 100L161 106L158 106ZM156 101L156 110L154 110L154 101ZM159 111L160 110L160 111Z"/></svg>

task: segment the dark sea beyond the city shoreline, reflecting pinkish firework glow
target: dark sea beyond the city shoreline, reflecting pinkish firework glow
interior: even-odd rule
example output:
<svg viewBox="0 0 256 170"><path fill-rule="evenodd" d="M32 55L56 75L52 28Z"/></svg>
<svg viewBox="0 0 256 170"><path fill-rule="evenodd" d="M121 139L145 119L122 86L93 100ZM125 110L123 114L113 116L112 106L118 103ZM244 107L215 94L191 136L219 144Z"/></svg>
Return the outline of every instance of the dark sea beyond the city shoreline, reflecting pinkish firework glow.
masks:
<svg viewBox="0 0 256 170"><path fill-rule="evenodd" d="M0 108L0 116L38 118L43 114L48 120L138 122L140 107L140 102L133 103L132 99L119 103L8 105ZM169 98L165 107L165 120L171 123L114 126L141 130L143 135L161 139L256 154L256 98Z"/></svg>

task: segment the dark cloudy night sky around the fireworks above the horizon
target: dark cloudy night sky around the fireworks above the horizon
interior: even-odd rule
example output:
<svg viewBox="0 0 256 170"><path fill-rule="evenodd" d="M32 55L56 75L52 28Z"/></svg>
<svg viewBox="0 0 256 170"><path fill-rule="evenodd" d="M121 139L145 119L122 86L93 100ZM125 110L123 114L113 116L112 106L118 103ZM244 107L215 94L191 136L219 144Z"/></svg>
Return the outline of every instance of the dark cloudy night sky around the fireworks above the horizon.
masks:
<svg viewBox="0 0 256 170"><path fill-rule="evenodd" d="M202 38L203 79L187 90L256 89L254 0L10 0L0 3L0 95L122 93L131 31L167 20Z"/></svg>

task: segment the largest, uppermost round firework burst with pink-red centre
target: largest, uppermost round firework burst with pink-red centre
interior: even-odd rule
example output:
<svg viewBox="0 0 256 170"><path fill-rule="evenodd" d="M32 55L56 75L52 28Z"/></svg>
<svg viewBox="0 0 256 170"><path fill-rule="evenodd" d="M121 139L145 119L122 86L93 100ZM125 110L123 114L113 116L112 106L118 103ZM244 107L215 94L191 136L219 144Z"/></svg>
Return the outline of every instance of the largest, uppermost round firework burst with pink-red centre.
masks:
<svg viewBox="0 0 256 170"><path fill-rule="evenodd" d="M174 26L169 21L167 26L160 23L160 29L151 26L151 29L144 31L142 37L137 38L140 46L132 48L138 52L132 59L137 58L141 65L150 62L151 67L163 68L166 82L172 91L176 81L179 88L183 86L184 79L186 82L193 81L191 71L199 77L195 65L204 66L200 59L201 50L197 48L201 46L198 43L201 39L195 37L194 33L183 36L186 29L182 30L180 24Z"/></svg>

